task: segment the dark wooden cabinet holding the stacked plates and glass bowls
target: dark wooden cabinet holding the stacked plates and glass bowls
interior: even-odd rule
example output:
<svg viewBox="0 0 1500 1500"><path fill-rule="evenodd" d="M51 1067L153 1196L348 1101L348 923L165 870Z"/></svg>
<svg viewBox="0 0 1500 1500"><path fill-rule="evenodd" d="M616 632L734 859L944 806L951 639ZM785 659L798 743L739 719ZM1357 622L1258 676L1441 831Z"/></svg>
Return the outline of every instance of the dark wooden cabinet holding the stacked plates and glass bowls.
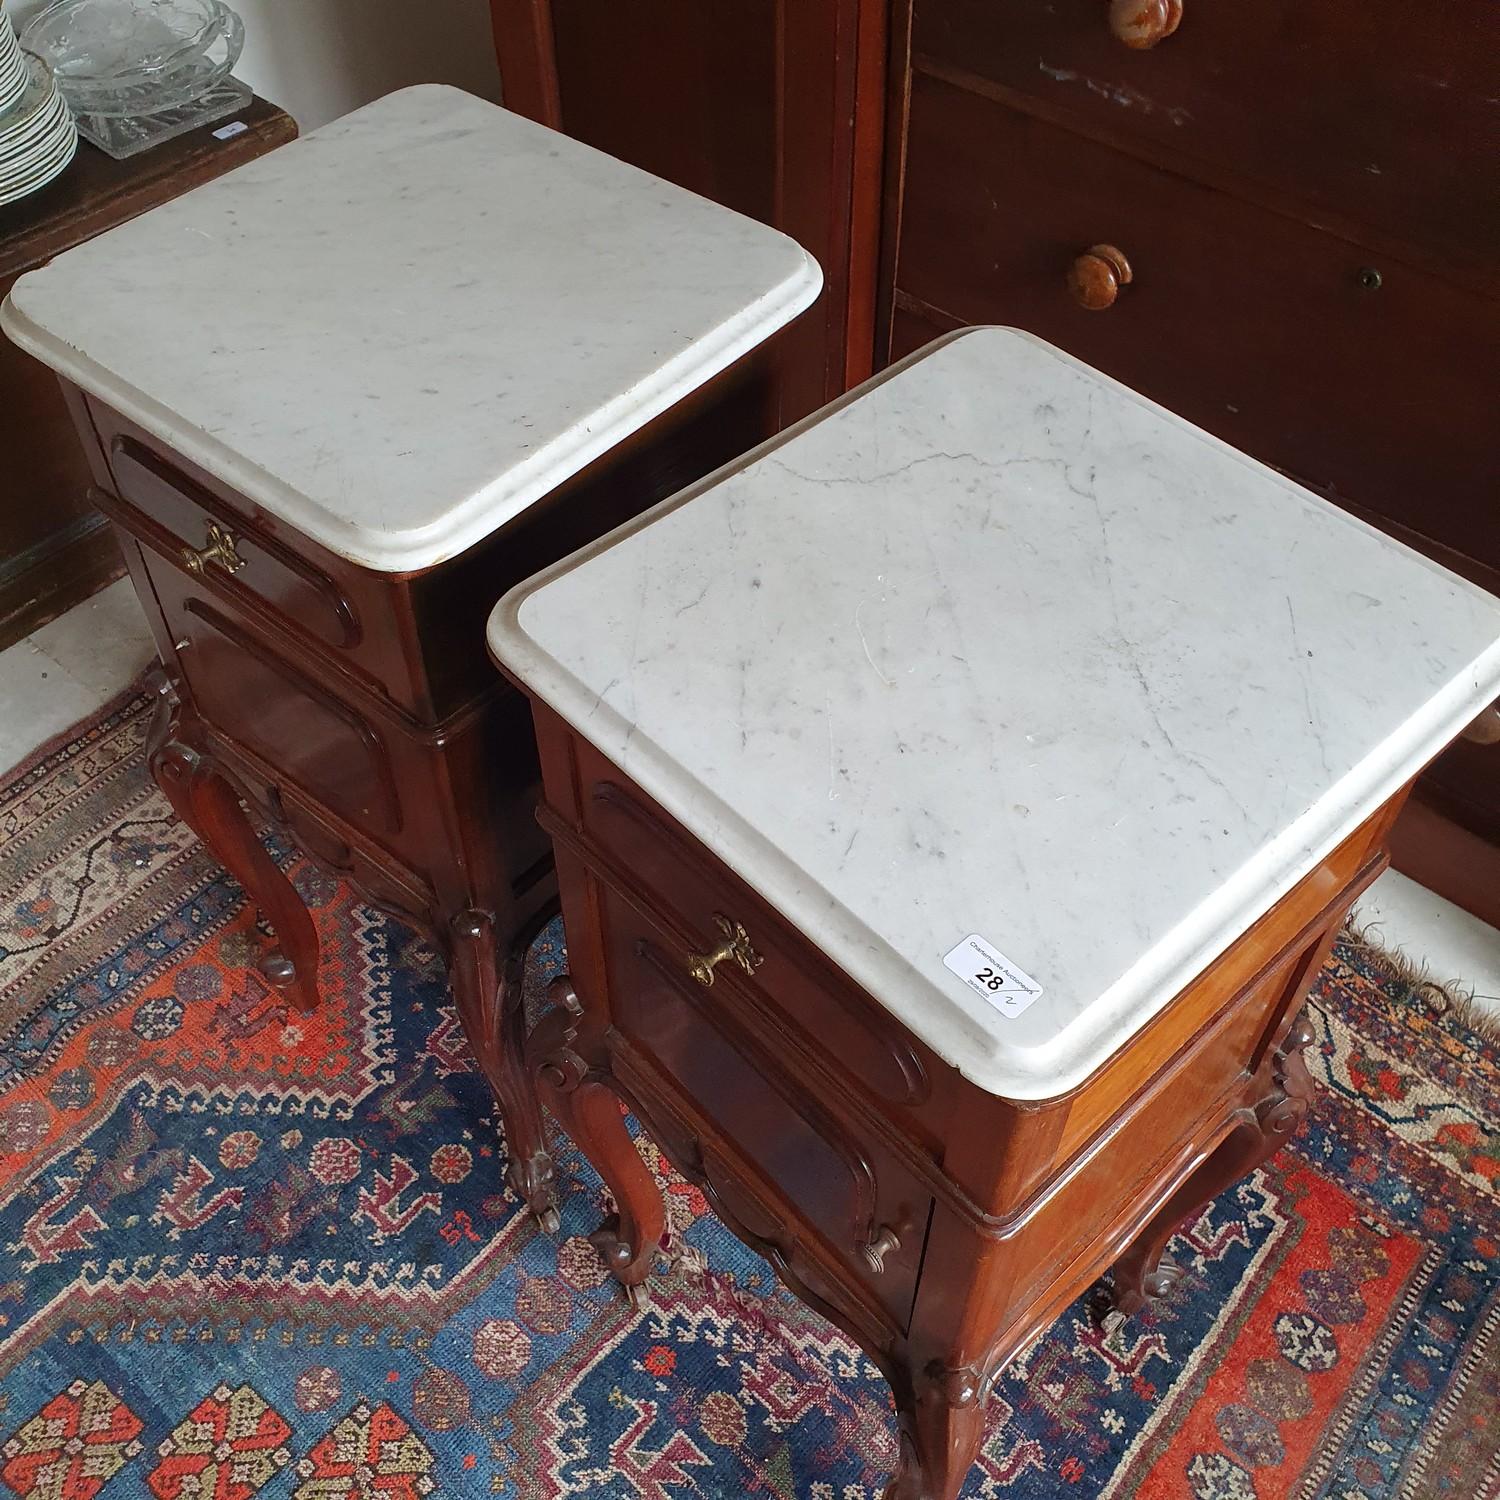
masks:
<svg viewBox="0 0 1500 1500"><path fill-rule="evenodd" d="M81 142L42 192L0 207L0 298L54 255L292 140L297 126L255 99L246 129L204 126L129 160ZM120 549L88 504L88 468L57 382L0 339L0 648L118 578Z"/></svg>

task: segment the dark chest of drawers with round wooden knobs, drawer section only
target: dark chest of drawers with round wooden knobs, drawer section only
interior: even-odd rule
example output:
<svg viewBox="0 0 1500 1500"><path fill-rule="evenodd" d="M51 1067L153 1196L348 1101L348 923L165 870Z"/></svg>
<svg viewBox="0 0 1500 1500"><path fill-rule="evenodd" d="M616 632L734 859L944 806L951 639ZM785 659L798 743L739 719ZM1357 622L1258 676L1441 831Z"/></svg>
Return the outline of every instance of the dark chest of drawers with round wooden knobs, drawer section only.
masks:
<svg viewBox="0 0 1500 1500"><path fill-rule="evenodd" d="M1152 45L1114 34L1125 16ZM1029 328L1500 592L1491 6L1413 26L1389 0L915 0L903 20L882 357ZM1500 926L1500 750L1444 754L1394 850Z"/></svg>

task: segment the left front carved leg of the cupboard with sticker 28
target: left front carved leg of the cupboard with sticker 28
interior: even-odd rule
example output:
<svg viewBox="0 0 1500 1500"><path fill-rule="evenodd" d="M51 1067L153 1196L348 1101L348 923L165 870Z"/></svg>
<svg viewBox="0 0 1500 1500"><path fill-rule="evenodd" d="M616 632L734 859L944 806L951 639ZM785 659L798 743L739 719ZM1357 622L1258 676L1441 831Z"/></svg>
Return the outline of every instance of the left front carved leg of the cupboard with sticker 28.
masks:
<svg viewBox="0 0 1500 1500"><path fill-rule="evenodd" d="M548 1107L594 1164L615 1197L618 1215L590 1239L632 1302L645 1302L645 1280L666 1233L666 1206L656 1178L640 1160L620 1113L620 1095L609 1086L603 1038L567 975L548 987L555 1010L531 1034L530 1054Z"/></svg>

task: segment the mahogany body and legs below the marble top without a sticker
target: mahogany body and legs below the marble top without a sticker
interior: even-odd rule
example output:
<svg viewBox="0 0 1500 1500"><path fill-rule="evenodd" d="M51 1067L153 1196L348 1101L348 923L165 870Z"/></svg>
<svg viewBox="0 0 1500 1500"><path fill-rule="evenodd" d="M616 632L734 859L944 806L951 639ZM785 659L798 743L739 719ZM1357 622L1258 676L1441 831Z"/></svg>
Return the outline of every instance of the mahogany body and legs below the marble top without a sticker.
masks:
<svg viewBox="0 0 1500 1500"><path fill-rule="evenodd" d="M525 698L484 620L513 584L765 435L746 360L484 542L418 573L356 566L64 387L93 502L114 524L164 669L152 768L178 814L276 930L261 969L316 1004L316 934L242 800L322 868L447 956L460 1018L501 1104L510 1180L554 1206L522 1062L525 948L556 906L537 826Z"/></svg>

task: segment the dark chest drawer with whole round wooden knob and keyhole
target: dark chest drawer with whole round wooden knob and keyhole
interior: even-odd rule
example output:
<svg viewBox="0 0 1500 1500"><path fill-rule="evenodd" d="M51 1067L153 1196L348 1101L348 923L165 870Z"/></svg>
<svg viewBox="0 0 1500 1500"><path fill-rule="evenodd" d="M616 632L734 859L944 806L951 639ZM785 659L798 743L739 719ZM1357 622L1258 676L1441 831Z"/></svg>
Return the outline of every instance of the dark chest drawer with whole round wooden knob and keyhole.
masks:
<svg viewBox="0 0 1500 1500"><path fill-rule="evenodd" d="M1305 483L1500 554L1500 303L932 78L906 184L898 302L1028 328ZM1084 310L1068 273L1096 243L1132 279Z"/></svg>

